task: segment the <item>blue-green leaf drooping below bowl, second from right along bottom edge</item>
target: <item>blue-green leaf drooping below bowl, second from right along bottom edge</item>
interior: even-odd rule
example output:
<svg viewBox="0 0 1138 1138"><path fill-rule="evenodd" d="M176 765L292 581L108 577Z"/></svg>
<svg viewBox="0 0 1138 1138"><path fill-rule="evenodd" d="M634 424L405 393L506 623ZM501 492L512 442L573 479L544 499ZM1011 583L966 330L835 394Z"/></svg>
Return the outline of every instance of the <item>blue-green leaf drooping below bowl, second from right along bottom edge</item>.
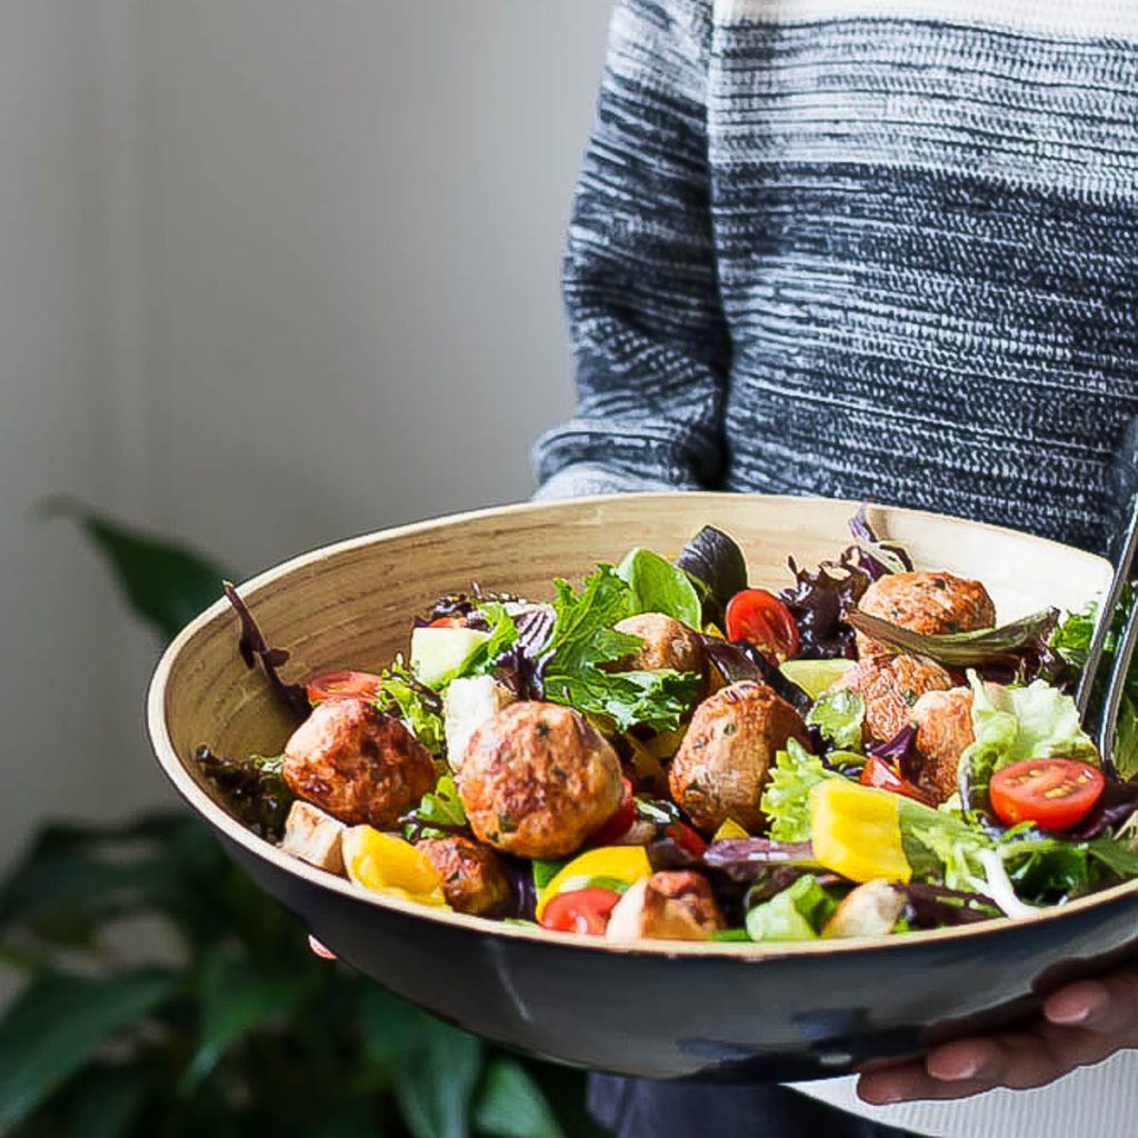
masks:
<svg viewBox="0 0 1138 1138"><path fill-rule="evenodd" d="M399 1112L414 1138L467 1138L481 1065L480 1040L439 1020L430 1021L395 1080Z"/></svg>

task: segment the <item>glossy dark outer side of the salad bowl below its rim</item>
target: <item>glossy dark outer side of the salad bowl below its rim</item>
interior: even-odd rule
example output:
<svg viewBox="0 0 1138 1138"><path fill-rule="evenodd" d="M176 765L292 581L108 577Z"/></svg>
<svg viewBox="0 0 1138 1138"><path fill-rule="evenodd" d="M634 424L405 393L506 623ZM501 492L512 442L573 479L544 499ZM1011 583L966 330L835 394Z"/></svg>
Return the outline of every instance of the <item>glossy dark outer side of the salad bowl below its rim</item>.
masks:
<svg viewBox="0 0 1138 1138"><path fill-rule="evenodd" d="M797 1081L916 1054L1030 1015L1058 983L1133 951L1138 929L1127 893L982 938L750 958L612 953L423 921L218 836L323 945L401 996L543 1058L652 1079Z"/></svg>

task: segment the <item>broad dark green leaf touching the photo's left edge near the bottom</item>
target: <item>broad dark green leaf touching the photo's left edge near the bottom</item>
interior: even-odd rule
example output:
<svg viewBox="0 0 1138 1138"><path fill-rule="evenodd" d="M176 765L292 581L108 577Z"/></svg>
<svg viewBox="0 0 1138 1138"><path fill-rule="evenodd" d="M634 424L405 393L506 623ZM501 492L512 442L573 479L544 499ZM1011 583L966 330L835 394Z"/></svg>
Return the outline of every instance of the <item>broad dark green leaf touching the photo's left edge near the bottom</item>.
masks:
<svg viewBox="0 0 1138 1138"><path fill-rule="evenodd" d="M0 1020L0 1128L27 1118L114 1032L176 987L152 968L97 980L55 973L31 983Z"/></svg>

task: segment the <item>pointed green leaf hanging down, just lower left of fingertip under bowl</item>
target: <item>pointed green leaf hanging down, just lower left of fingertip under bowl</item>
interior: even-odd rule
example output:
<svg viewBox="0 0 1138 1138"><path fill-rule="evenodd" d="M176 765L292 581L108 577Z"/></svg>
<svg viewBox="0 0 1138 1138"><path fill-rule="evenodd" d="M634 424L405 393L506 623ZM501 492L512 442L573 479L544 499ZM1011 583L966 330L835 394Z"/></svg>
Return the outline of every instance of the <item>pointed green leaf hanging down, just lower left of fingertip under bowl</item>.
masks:
<svg viewBox="0 0 1138 1138"><path fill-rule="evenodd" d="M239 1039L271 1023L287 1020L305 995L303 979L216 950L201 973L201 1034L198 1049L179 1083L192 1092L217 1061Z"/></svg>

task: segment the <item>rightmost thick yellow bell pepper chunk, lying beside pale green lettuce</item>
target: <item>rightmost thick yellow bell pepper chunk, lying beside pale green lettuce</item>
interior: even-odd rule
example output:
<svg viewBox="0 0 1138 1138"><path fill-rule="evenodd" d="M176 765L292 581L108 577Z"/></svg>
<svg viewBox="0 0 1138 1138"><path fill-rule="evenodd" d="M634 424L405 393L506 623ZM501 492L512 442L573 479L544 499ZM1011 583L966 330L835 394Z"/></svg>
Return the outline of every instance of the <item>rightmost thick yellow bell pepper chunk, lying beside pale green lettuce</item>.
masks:
<svg viewBox="0 0 1138 1138"><path fill-rule="evenodd" d="M897 795L848 778L826 778L810 791L814 856L850 881L883 877L906 882L913 869L905 858Z"/></svg>

